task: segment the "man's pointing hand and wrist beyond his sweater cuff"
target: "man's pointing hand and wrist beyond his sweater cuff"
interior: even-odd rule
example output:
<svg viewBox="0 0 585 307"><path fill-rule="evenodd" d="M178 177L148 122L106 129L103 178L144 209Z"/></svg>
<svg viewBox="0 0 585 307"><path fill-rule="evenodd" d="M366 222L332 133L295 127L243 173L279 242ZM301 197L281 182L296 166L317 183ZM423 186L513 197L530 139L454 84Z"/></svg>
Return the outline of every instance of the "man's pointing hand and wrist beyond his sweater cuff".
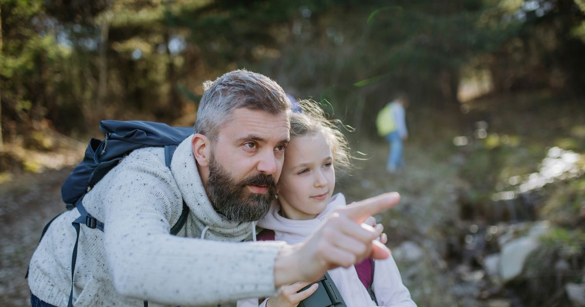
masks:
<svg viewBox="0 0 585 307"><path fill-rule="evenodd" d="M326 270L347 268L367 257L390 256L390 250L376 240L381 233L362 222L398 201L400 195L390 192L337 209L305 242L283 247L274 267L276 286L314 281Z"/></svg>

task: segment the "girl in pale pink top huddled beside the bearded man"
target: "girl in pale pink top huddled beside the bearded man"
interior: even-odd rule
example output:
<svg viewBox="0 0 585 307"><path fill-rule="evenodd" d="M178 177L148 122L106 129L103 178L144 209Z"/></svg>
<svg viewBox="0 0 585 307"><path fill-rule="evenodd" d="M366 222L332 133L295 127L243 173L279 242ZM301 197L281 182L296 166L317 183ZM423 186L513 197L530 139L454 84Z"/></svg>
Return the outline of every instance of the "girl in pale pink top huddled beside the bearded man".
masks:
<svg viewBox="0 0 585 307"><path fill-rule="evenodd" d="M333 195L335 168L349 168L352 158L345 136L325 118L322 109L312 101L301 101L300 105L303 113L291 116L291 140L278 181L278 198L258 222L258 226L266 229L259 237L290 244L302 242L329 213L346 205L343 194ZM363 264L370 274L363 274L363 268L356 270ZM416 306L402 284L392 256L385 260L365 260L328 273L347 306ZM319 287L313 284L298 292L307 285L297 282L283 287L278 296L260 300L260 306L297 306ZM369 286L374 295L370 295ZM258 299L240 300L238 306L258 306L258 302Z"/></svg>

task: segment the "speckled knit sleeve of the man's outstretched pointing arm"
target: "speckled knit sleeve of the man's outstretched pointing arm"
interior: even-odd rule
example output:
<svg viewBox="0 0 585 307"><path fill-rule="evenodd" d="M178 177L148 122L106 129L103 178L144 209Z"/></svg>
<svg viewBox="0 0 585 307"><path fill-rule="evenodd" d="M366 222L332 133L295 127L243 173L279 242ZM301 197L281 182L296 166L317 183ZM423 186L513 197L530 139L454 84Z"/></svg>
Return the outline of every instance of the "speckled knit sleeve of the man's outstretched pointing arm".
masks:
<svg viewBox="0 0 585 307"><path fill-rule="evenodd" d="M168 212L177 206L168 184L172 175L147 162L125 165L104 199L104 249L116 291L172 305L276 293L274 260L284 243L171 236Z"/></svg>

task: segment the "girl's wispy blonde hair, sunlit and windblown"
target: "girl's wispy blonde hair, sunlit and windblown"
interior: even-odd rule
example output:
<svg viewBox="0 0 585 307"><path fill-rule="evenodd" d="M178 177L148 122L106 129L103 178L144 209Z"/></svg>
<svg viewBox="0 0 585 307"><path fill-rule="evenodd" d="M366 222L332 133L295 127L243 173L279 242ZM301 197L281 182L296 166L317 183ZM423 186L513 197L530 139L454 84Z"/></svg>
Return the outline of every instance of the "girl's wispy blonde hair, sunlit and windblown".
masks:
<svg viewBox="0 0 585 307"><path fill-rule="evenodd" d="M291 115L291 138L321 133L331 149L333 165L345 171L351 170L354 157L350 152L349 142L339 130L338 125L348 131L353 131L353 128L343 125L339 119L328 119L325 111L315 101L301 100L298 104L301 106L302 113Z"/></svg>

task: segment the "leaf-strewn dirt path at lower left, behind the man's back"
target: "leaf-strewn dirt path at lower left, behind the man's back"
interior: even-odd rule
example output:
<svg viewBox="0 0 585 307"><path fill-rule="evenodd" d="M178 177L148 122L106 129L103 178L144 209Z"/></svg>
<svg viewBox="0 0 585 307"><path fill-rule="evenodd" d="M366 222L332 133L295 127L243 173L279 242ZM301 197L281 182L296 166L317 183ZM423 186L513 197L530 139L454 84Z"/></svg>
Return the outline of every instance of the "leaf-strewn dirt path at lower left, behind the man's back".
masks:
<svg viewBox="0 0 585 307"><path fill-rule="evenodd" d="M26 268L44 225L64 210L60 188L70 171L16 175L0 185L1 306L30 306Z"/></svg>

